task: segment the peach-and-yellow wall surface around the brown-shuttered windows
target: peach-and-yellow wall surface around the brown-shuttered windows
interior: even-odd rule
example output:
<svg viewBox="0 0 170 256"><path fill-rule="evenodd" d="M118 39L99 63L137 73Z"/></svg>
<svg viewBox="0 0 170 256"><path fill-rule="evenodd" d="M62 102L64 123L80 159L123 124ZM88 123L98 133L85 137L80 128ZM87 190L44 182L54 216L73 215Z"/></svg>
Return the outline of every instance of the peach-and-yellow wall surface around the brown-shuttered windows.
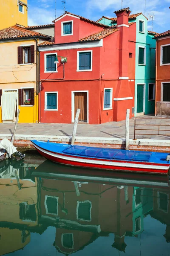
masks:
<svg viewBox="0 0 170 256"><path fill-rule="evenodd" d="M36 95L36 63L34 64L17 64L17 47L24 45L34 45L36 62L36 42L35 40L8 41L0 44L0 89L17 90L20 88L32 87L34 93L34 106L19 106L20 109L19 122L30 123L38 122L38 96ZM0 108L0 122L1 119Z"/></svg>

